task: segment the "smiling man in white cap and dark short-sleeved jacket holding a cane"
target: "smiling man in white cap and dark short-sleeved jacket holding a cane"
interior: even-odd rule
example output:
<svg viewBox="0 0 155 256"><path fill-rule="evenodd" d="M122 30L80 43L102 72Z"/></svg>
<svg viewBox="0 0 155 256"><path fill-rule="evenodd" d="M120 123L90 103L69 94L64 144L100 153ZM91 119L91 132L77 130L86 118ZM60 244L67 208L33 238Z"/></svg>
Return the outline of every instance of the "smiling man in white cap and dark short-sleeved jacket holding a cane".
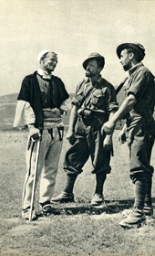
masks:
<svg viewBox="0 0 155 256"><path fill-rule="evenodd" d="M71 108L69 95L61 79L52 73L57 54L43 50L37 57L39 69L22 81L17 98L14 127L28 127L26 180L23 190L22 217L29 219L36 162L36 143L41 137L36 181L40 177L39 203L43 214L53 212L50 199L54 193L57 165L63 142L62 113ZM30 144L31 142L31 144ZM32 219L36 219L33 211Z"/></svg>

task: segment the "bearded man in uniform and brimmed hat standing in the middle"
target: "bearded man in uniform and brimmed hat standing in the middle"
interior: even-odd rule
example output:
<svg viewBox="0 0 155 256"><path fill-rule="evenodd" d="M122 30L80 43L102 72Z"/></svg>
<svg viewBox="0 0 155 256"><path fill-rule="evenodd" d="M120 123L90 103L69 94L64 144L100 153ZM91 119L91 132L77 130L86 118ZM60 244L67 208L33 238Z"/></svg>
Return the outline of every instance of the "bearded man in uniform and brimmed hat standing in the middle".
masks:
<svg viewBox="0 0 155 256"><path fill-rule="evenodd" d="M103 204L103 185L111 169L112 138L101 133L101 127L109 120L109 115L118 110L114 87L100 75L104 65L104 57L96 52L83 62L87 79L78 84L67 133L71 144L64 163L67 182L63 193L52 198L53 203L74 201L75 181L90 156L97 182L91 205Z"/></svg>

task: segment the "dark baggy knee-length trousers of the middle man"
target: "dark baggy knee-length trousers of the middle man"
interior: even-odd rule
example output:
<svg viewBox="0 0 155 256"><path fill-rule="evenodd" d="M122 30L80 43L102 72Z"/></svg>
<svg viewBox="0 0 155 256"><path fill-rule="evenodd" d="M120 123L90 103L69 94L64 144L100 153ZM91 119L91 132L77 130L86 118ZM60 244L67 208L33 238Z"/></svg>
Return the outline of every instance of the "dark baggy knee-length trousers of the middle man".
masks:
<svg viewBox="0 0 155 256"><path fill-rule="evenodd" d="M79 175L90 156L92 173L109 173L110 152L105 151L103 141L105 136L93 126L85 127L85 132L77 136L75 144L67 150L64 162L64 170L67 174Z"/></svg>

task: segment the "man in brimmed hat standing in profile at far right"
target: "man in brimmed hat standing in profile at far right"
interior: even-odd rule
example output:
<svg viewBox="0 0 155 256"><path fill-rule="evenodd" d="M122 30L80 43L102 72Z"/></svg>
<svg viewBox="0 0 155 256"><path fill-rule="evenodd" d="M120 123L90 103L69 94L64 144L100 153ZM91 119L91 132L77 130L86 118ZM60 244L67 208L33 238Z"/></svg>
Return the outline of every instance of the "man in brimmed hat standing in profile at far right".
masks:
<svg viewBox="0 0 155 256"><path fill-rule="evenodd" d="M117 55L123 69L129 70L126 98L119 110L104 124L103 129L107 134L112 133L119 119L125 117L127 120L129 169L130 178L135 185L135 202L133 209L124 210L126 219L122 219L119 225L133 227L153 214L153 167L150 165L150 155L155 133L152 116L155 105L155 81L150 70L141 63L145 56L145 48L142 45L121 44L117 48Z"/></svg>

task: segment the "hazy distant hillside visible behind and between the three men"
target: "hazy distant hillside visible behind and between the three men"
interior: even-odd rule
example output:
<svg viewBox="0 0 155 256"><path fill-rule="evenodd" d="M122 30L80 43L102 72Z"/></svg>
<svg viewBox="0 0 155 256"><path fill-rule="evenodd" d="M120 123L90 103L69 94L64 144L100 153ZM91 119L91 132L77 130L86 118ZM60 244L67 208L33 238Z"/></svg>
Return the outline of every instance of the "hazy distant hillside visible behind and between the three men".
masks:
<svg viewBox="0 0 155 256"><path fill-rule="evenodd" d="M73 93L70 94L72 99ZM0 96L0 131L15 131L13 129L14 117L15 117L15 106L16 106L17 93ZM118 101L119 103L124 99L123 91L119 92ZM69 112L64 116L64 124L67 125L69 120ZM117 128L119 129L120 123Z"/></svg>

